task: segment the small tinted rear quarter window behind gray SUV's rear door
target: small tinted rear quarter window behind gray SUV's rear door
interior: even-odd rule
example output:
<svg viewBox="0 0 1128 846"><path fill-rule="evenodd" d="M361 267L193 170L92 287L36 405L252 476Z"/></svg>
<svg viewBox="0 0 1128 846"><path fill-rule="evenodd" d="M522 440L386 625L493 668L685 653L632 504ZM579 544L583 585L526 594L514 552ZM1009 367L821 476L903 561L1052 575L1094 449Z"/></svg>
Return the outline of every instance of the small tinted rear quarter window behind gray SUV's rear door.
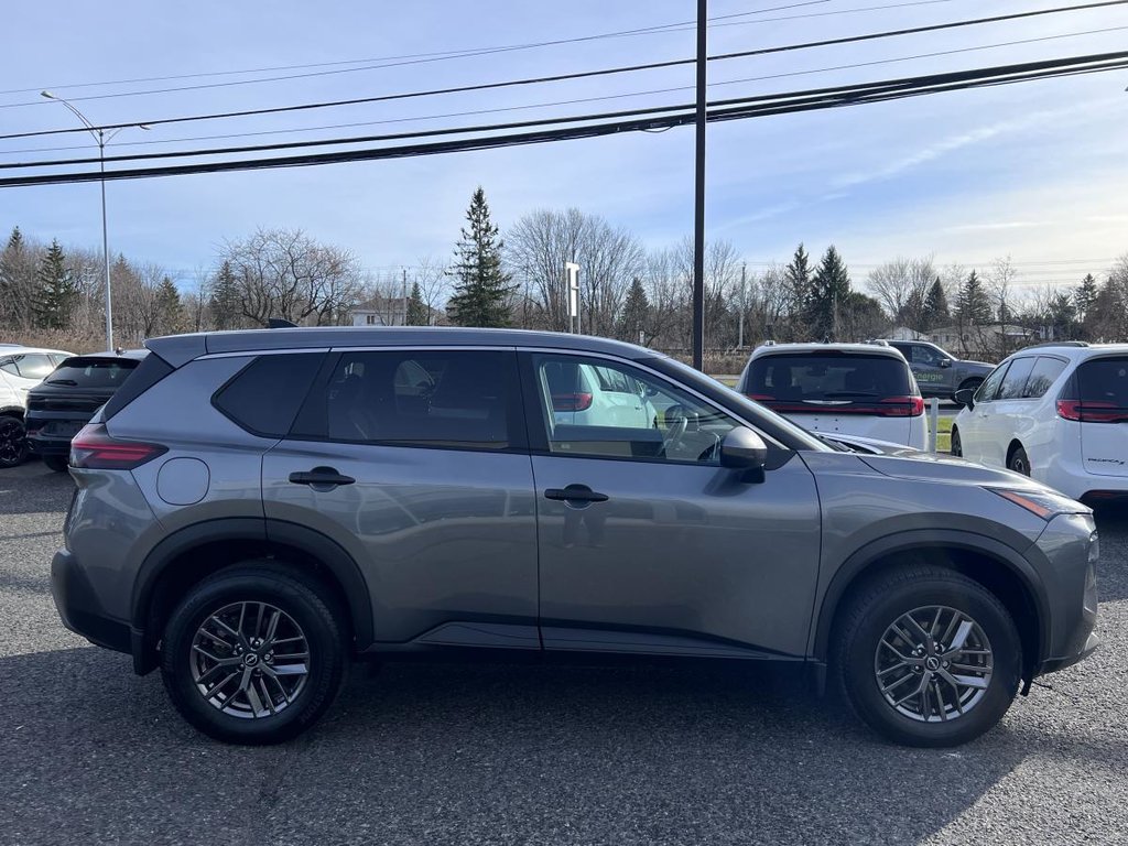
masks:
<svg viewBox="0 0 1128 846"><path fill-rule="evenodd" d="M282 438L324 358L324 353L261 355L220 388L212 404L248 432Z"/></svg>

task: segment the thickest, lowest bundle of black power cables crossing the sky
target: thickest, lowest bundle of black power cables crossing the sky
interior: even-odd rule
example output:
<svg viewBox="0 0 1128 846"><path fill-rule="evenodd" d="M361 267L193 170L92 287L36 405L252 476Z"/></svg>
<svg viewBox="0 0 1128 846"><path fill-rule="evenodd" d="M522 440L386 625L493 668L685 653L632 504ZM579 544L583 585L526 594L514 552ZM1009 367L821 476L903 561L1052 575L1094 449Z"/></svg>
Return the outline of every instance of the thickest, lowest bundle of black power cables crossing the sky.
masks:
<svg viewBox="0 0 1128 846"><path fill-rule="evenodd" d="M986 86L1012 85L1024 81L1125 69L1128 69L1128 52L1098 54L1092 56L1073 56L1068 59L1048 60L1017 65L981 68L969 71L929 74L925 77L883 80L832 89L821 89L818 91L799 92L796 95L767 95L733 100L717 100L711 104L714 108L711 112L708 120L730 121L779 114L793 114L797 112L837 108L866 103L883 103L906 97L966 90ZM585 115L571 118L559 118L556 123L587 121L589 122L588 125L490 135L485 138L404 144L399 147L369 148L363 150L346 150L326 153L307 153L291 157L237 159L182 166L166 165L151 168L135 168L132 170L109 170L105 173L85 171L79 174L47 174L9 177L0 179L0 187L70 184L80 182L98 182L100 179L131 179L155 176L178 176L279 167L307 167L350 161L372 161L378 159L429 156L467 150L497 149L520 144L539 144L570 139L597 138L646 129L679 126L694 120L691 105L667 107L664 109L638 109L635 114L662 111L675 111L675 114L650 115L599 124L590 123L590 121L596 120L597 116ZM528 123L531 124L535 122ZM499 129L499 126L483 126L474 130L457 130L457 132L485 132L496 129ZM435 130L431 134L440 134L444 132L450 132L450 130ZM303 142L305 146L312 143L315 142ZM206 155L206 152L197 152L197 155Z"/></svg>

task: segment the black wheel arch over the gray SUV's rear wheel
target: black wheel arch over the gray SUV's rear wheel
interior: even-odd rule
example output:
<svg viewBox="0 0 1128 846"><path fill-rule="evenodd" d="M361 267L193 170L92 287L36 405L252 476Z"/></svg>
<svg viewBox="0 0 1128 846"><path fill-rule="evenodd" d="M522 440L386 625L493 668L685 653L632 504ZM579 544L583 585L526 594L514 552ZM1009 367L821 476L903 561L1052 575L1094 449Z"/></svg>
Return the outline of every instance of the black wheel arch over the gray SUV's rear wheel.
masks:
<svg viewBox="0 0 1128 846"><path fill-rule="evenodd" d="M347 609L353 649L359 651L371 644L373 624L368 583L343 547L297 523L224 518L179 529L146 556L134 580L131 601L134 670L144 675L156 669L164 620L185 591L212 573L252 558L276 558L312 575Z"/></svg>

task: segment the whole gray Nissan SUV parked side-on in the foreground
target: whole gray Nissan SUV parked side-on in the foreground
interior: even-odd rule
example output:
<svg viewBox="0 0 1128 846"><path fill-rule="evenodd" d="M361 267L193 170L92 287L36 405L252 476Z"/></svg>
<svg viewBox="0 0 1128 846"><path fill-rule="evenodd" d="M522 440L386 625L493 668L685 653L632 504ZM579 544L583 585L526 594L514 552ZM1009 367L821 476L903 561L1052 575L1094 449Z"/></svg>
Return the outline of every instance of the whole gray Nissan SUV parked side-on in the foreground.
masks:
<svg viewBox="0 0 1128 846"><path fill-rule="evenodd" d="M434 328L148 346L72 443L52 588L226 741L298 734L352 659L485 654L800 666L884 737L951 746L1096 643L1084 505L834 449L649 350ZM592 379L654 413L578 416Z"/></svg>

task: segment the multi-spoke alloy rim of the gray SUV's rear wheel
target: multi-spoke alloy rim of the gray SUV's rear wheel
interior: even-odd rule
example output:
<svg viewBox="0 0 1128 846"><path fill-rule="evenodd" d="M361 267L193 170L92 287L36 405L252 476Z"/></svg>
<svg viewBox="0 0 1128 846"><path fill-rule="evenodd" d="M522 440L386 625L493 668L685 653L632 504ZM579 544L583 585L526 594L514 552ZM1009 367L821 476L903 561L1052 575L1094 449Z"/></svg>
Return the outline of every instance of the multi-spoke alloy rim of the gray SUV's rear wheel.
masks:
<svg viewBox="0 0 1128 846"><path fill-rule="evenodd" d="M301 626L266 602L232 602L209 615L192 638L192 680L213 707L236 717L268 717L301 695L309 642Z"/></svg>

